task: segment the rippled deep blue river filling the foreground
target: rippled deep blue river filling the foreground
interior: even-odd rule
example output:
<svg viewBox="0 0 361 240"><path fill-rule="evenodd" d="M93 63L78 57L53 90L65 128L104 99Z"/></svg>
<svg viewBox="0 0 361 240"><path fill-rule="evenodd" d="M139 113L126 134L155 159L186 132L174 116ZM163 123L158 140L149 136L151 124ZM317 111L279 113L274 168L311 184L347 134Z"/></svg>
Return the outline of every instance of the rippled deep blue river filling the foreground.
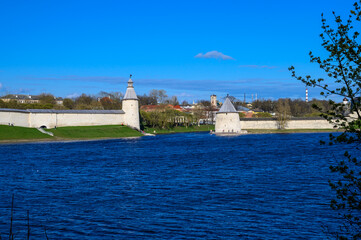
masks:
<svg viewBox="0 0 361 240"><path fill-rule="evenodd" d="M324 239L338 224L327 133L0 145L0 236Z"/></svg>

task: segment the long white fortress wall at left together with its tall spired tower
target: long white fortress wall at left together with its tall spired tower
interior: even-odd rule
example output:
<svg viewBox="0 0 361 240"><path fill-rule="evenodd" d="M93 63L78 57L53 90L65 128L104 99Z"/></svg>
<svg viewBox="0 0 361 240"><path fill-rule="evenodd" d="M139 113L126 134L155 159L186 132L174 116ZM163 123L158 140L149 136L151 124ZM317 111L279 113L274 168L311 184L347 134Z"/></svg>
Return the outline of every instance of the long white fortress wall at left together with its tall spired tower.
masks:
<svg viewBox="0 0 361 240"><path fill-rule="evenodd" d="M140 129L139 103L130 78L122 110L53 110L0 108L0 125L31 128L128 125Z"/></svg>

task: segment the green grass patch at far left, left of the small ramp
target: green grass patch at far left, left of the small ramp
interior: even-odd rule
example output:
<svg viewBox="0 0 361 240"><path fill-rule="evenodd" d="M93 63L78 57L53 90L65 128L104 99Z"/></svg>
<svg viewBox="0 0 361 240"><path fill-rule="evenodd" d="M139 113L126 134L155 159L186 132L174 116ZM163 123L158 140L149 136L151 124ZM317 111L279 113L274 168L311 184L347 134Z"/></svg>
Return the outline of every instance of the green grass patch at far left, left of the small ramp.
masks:
<svg viewBox="0 0 361 240"><path fill-rule="evenodd" d="M49 135L39 132L36 128L10 127L0 125L0 140L49 139Z"/></svg>

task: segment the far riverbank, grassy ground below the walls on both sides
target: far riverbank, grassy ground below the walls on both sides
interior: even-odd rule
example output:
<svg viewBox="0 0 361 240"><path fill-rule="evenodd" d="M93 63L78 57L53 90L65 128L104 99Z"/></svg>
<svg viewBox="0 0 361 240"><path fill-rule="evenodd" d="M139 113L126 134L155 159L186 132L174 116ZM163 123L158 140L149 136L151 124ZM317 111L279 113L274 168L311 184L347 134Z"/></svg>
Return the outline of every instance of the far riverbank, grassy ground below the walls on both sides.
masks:
<svg viewBox="0 0 361 240"><path fill-rule="evenodd" d="M150 134L175 134L191 132L214 131L214 125L200 125L189 127L174 127L171 129L145 128L145 133ZM247 130L247 129L245 129ZM31 142L74 142L98 141L120 138L134 138L144 136L140 132L127 126L105 125L86 127L61 127L46 129L52 133L50 136L41 133L35 128L0 126L0 144L31 143ZM282 133L321 133L342 132L340 129L249 129L248 134L282 134Z"/></svg>

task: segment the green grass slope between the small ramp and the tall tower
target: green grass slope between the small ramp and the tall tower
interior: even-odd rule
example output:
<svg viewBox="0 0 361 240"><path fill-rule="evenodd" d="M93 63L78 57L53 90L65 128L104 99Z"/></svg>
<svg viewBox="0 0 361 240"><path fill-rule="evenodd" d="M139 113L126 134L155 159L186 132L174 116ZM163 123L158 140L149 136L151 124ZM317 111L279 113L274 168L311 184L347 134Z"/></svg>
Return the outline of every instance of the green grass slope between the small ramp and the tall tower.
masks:
<svg viewBox="0 0 361 240"><path fill-rule="evenodd" d="M136 130L127 126L107 125L107 126L86 126L86 127L59 127L49 129L55 137L66 139L81 138L120 138L120 137L138 137L142 136Z"/></svg>

